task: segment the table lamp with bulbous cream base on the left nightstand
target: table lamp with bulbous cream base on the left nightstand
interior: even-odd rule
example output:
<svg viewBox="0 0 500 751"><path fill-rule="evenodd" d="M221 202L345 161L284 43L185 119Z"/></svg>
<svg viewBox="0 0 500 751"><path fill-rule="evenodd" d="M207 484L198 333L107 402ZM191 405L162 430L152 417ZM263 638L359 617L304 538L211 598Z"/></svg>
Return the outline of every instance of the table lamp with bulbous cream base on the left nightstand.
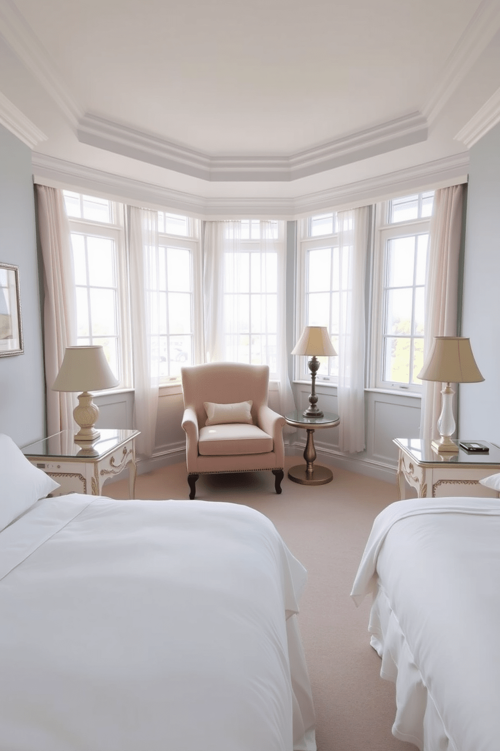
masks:
<svg viewBox="0 0 500 751"><path fill-rule="evenodd" d="M55 379L52 391L82 391L73 418L80 430L74 436L75 443L88 444L100 437L94 423L99 417L99 408L88 391L118 386L101 346L67 347Z"/></svg>

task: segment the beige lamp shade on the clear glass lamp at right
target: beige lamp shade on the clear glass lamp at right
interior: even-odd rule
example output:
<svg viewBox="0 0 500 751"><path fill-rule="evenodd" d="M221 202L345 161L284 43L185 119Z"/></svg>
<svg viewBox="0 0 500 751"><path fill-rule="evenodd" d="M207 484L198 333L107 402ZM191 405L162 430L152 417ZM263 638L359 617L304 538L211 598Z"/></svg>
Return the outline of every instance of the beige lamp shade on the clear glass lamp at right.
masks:
<svg viewBox="0 0 500 751"><path fill-rule="evenodd" d="M418 378L441 383L484 381L465 336L435 336L433 346Z"/></svg>

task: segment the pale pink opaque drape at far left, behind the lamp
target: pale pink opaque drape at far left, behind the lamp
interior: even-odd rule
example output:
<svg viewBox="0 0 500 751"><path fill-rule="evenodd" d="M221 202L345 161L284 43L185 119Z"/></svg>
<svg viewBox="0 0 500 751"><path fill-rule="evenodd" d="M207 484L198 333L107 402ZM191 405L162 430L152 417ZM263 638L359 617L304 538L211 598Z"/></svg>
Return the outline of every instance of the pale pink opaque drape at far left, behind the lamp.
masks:
<svg viewBox="0 0 500 751"><path fill-rule="evenodd" d="M76 293L70 227L62 192L35 185L43 257L43 356L47 433L73 429L76 395L52 391L66 347L76 345Z"/></svg>

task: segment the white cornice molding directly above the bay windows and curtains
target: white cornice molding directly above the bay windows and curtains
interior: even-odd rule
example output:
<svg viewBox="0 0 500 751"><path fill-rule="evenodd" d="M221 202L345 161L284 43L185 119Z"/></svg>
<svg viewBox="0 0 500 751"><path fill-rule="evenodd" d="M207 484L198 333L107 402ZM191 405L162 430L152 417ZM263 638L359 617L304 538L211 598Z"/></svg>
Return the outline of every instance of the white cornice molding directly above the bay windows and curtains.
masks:
<svg viewBox="0 0 500 751"><path fill-rule="evenodd" d="M469 152L296 198L205 198L36 152L32 155L32 164L34 182L55 188L88 191L91 195L134 206L180 211L200 219L227 219L232 216L296 219L323 209L355 208L394 195L405 195L406 192L467 182Z"/></svg>

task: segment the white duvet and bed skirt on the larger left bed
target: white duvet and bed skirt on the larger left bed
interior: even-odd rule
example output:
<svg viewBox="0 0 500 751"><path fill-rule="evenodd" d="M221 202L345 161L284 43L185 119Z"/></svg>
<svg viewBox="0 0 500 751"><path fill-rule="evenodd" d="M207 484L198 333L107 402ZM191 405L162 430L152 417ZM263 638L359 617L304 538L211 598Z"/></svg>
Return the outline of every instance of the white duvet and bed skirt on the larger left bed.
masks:
<svg viewBox="0 0 500 751"><path fill-rule="evenodd" d="M316 749L305 582L244 506L38 502L0 533L1 751Z"/></svg>

